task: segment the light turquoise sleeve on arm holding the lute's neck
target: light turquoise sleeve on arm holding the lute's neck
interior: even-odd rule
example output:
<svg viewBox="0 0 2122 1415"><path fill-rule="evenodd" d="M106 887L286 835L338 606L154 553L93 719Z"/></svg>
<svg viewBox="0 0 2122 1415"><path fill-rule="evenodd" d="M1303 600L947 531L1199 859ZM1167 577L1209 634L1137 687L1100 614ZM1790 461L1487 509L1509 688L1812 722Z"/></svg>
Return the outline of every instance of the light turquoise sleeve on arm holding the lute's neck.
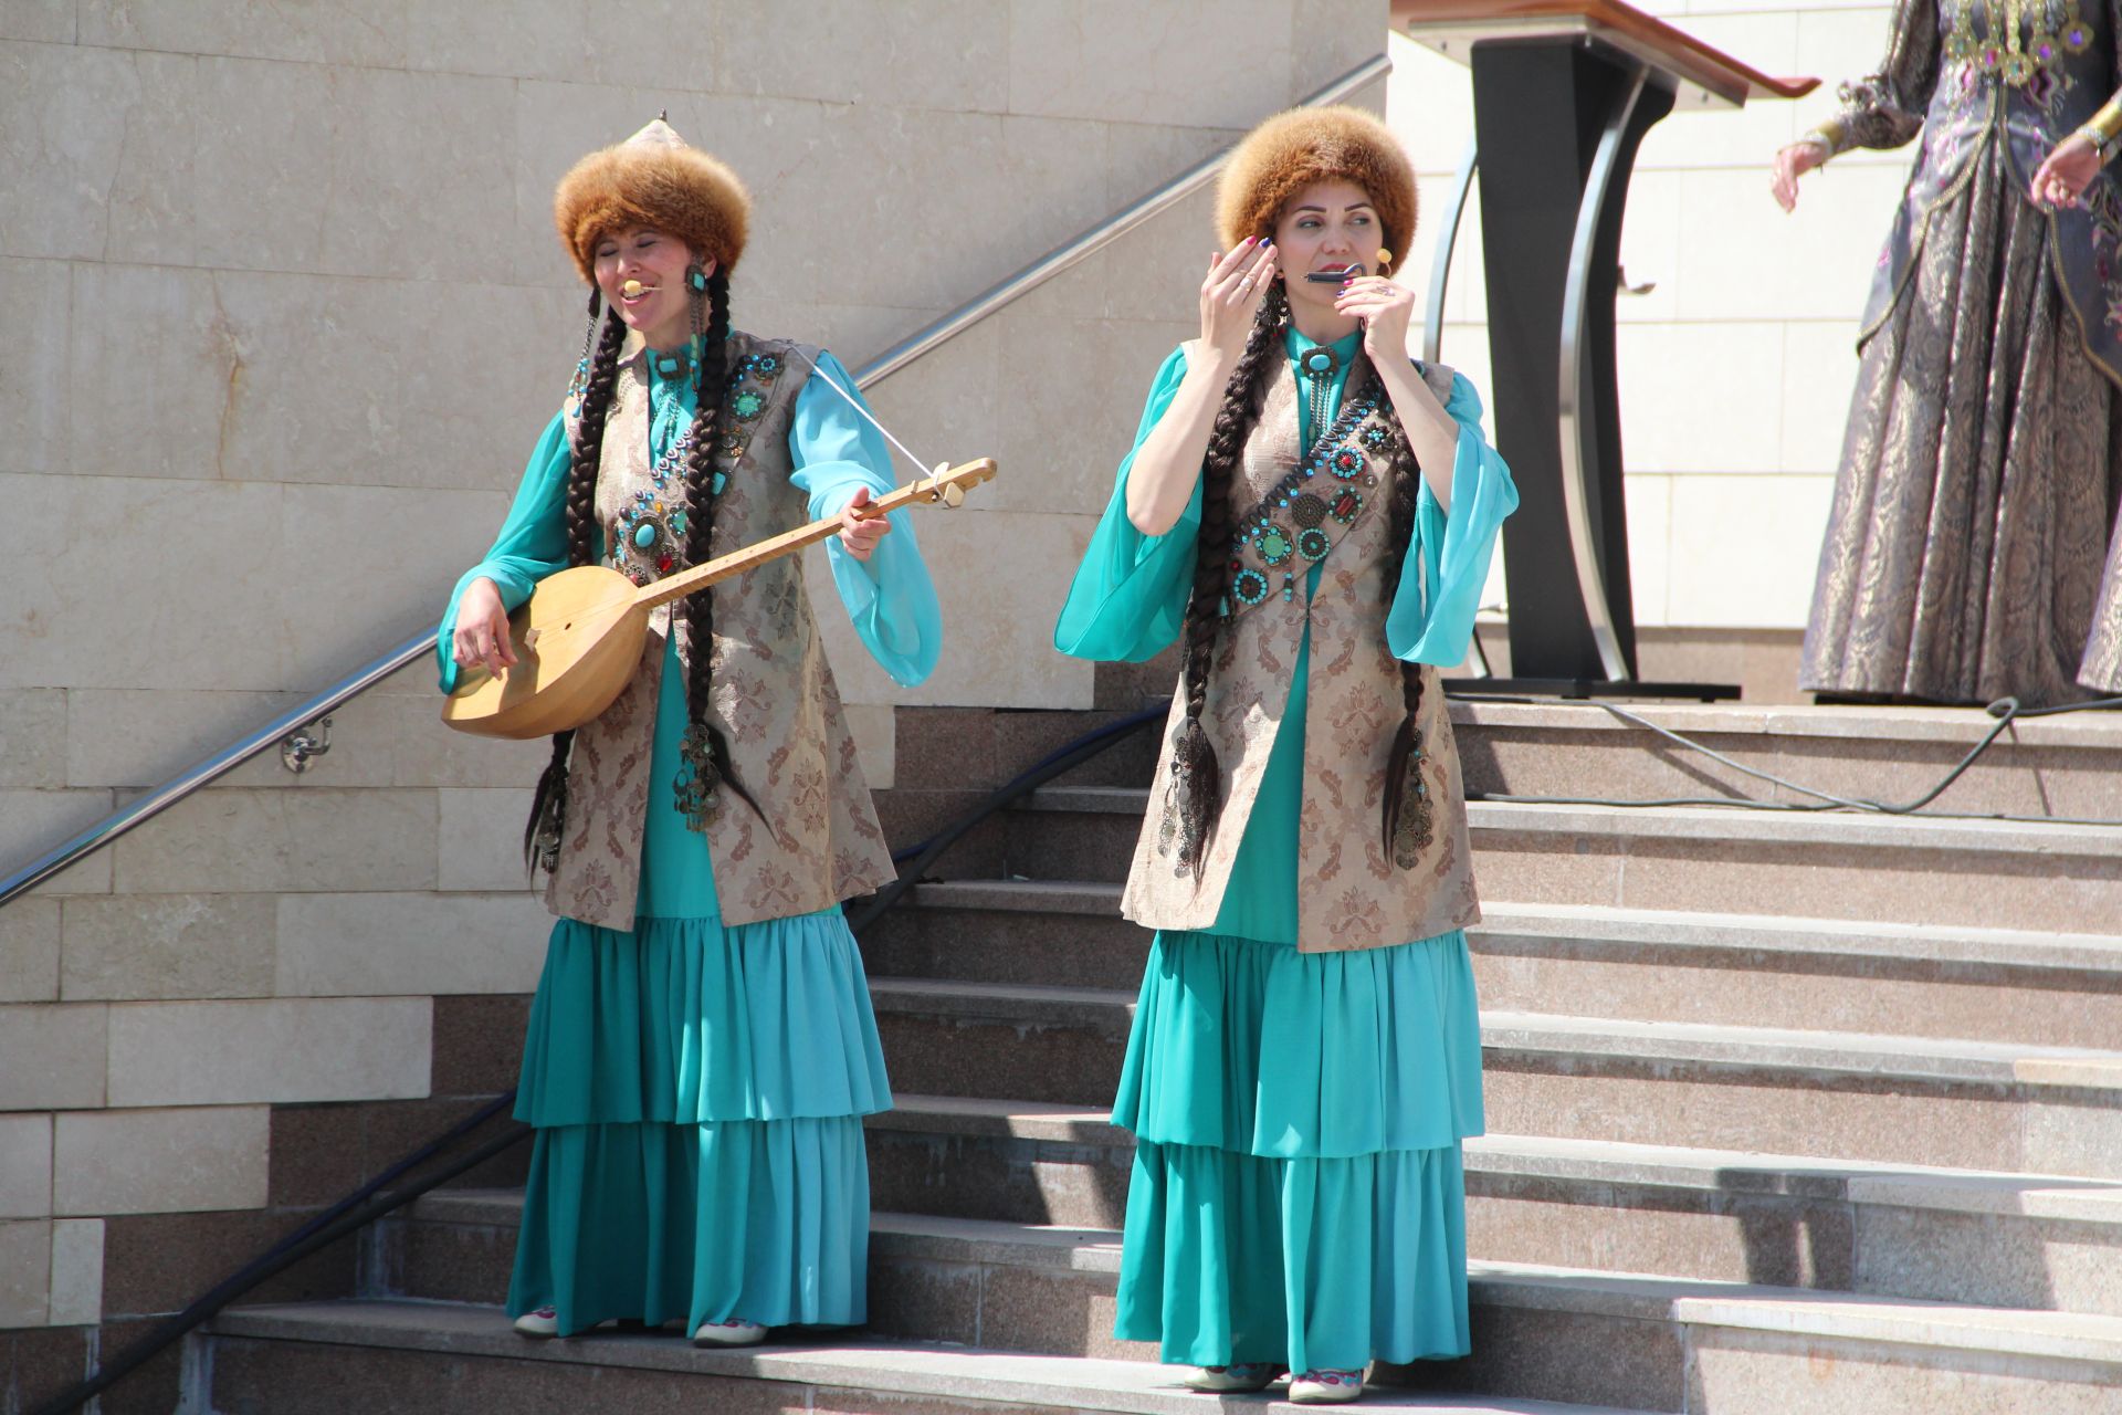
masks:
<svg viewBox="0 0 2122 1415"><path fill-rule="evenodd" d="M811 520L838 516L855 496L857 486L883 496L893 488L891 448L883 435L864 422L838 392L862 401L855 378L828 352L819 352L802 392L796 395L796 420L789 422L789 454L796 460L794 482L811 499ZM862 403L868 407L868 403ZM847 617L855 632L893 683L912 687L927 679L942 651L942 607L936 586L921 560L912 516L891 513L891 532L876 543L868 564L855 560L840 541L825 543L832 583L840 590Z"/></svg>

